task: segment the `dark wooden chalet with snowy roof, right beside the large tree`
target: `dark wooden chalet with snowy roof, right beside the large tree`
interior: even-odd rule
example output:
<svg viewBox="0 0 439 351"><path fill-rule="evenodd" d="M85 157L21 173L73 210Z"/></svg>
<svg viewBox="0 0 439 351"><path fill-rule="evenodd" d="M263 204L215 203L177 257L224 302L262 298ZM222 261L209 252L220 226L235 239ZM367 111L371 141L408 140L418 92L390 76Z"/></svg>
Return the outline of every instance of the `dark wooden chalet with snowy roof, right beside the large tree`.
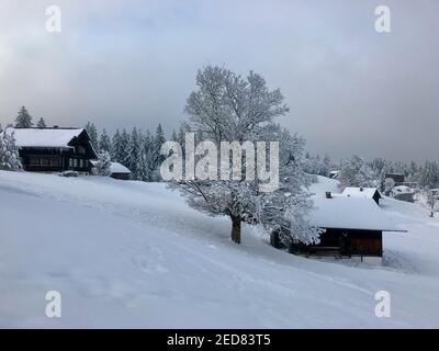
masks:
<svg viewBox="0 0 439 351"><path fill-rule="evenodd" d="M383 231L405 231L396 227L375 205L361 197L316 196L309 224L324 229L316 245L291 244L289 251L306 257L336 257L381 264ZM281 247L279 237L271 235L271 244Z"/></svg>

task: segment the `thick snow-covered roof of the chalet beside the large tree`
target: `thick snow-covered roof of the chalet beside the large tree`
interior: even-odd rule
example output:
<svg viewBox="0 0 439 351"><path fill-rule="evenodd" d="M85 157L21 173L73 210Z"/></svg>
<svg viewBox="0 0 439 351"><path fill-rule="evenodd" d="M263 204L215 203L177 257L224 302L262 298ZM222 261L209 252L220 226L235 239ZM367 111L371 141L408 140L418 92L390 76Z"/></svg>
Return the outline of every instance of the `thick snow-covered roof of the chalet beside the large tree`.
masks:
<svg viewBox="0 0 439 351"><path fill-rule="evenodd" d="M309 224L320 228L405 231L398 228L370 199L314 196Z"/></svg>

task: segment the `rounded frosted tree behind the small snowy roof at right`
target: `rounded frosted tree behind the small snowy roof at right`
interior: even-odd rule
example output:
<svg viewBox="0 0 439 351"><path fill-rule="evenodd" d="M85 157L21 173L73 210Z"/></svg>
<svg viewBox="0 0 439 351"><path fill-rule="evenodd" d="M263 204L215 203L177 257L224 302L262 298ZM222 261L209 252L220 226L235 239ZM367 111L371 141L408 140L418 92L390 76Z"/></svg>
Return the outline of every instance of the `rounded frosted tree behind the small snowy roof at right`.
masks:
<svg viewBox="0 0 439 351"><path fill-rule="evenodd" d="M365 160L359 156L345 160L338 174L340 186L378 186L376 174Z"/></svg>

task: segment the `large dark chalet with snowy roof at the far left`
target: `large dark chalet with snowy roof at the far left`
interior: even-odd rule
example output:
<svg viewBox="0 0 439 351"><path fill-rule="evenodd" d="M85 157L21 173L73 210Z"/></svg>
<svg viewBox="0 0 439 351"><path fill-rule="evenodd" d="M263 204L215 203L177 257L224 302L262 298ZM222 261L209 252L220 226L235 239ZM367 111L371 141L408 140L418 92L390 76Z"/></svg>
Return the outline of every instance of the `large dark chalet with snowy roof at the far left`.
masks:
<svg viewBox="0 0 439 351"><path fill-rule="evenodd" d="M23 168L32 172L90 172L95 159L90 137L83 128L12 128Z"/></svg>

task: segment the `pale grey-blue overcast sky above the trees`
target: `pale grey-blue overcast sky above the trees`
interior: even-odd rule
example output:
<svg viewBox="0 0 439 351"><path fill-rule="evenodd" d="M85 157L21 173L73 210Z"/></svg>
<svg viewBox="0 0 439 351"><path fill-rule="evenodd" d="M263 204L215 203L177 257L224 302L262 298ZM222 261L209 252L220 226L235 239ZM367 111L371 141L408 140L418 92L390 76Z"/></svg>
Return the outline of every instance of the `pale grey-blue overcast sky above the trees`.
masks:
<svg viewBox="0 0 439 351"><path fill-rule="evenodd" d="M439 159L438 38L437 0L0 0L0 123L170 131L211 64L281 88L312 154Z"/></svg>

